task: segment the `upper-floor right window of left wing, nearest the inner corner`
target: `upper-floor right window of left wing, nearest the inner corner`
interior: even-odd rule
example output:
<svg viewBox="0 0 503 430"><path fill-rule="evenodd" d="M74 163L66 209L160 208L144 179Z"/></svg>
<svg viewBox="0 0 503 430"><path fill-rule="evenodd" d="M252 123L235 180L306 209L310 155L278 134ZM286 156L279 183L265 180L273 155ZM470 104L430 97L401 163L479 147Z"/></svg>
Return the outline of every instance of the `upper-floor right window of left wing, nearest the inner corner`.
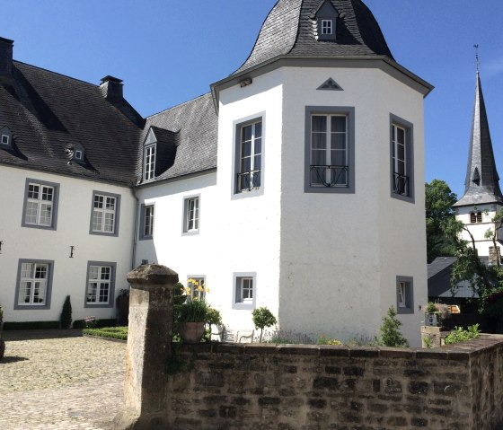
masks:
<svg viewBox="0 0 503 430"><path fill-rule="evenodd" d="M93 191L93 215L91 216L91 234L119 234L119 206L118 194Z"/></svg>

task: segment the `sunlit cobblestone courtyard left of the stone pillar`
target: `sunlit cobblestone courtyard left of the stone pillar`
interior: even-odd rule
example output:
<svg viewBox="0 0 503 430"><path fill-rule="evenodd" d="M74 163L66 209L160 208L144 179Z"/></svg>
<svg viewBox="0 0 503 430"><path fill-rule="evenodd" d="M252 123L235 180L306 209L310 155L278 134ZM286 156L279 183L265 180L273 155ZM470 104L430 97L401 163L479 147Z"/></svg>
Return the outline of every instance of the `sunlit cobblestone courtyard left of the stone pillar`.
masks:
<svg viewBox="0 0 503 430"><path fill-rule="evenodd" d="M123 399L126 344L78 330L4 331L0 429L107 430Z"/></svg>

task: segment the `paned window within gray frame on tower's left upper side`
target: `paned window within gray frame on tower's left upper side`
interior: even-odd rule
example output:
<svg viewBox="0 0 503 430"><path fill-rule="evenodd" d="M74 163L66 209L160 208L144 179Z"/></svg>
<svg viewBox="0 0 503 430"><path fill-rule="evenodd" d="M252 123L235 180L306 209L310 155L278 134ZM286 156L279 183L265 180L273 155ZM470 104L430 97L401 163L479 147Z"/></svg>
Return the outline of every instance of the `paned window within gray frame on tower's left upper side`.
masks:
<svg viewBox="0 0 503 430"><path fill-rule="evenodd" d="M240 130L239 172L237 192L260 189L262 167L262 122L257 121Z"/></svg>

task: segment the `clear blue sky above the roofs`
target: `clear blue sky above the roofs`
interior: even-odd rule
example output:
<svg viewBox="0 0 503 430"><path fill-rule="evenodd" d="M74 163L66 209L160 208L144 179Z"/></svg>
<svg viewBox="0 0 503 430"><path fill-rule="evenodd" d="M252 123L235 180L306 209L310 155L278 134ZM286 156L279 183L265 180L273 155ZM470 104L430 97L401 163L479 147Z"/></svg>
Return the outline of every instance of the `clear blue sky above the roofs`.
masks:
<svg viewBox="0 0 503 430"><path fill-rule="evenodd" d="M475 50L503 178L502 0L364 0L393 57L436 88L425 100L426 180L463 194ZM189 101L250 54L276 0L0 0L13 57L89 83L113 75L143 116ZM8 19L7 19L8 18ZM503 184L502 184L503 186Z"/></svg>

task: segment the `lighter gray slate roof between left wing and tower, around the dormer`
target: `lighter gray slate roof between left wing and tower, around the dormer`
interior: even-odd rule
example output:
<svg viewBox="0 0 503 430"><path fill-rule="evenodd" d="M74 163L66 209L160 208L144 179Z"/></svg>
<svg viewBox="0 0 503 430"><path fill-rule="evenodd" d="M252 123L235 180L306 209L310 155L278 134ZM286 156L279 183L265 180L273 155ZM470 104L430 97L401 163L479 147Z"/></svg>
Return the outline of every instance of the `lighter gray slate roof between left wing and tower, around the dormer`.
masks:
<svg viewBox="0 0 503 430"><path fill-rule="evenodd" d="M172 139L174 153L168 162L171 162L171 166L168 170L159 172L159 175L156 171L154 181L216 168L218 118L211 93L146 118L143 140L150 127L157 127L154 128L154 133L158 138L160 129L169 130L170 135L163 135L164 140L168 139L167 136L176 135ZM139 171L141 164L140 162L137 166Z"/></svg>

